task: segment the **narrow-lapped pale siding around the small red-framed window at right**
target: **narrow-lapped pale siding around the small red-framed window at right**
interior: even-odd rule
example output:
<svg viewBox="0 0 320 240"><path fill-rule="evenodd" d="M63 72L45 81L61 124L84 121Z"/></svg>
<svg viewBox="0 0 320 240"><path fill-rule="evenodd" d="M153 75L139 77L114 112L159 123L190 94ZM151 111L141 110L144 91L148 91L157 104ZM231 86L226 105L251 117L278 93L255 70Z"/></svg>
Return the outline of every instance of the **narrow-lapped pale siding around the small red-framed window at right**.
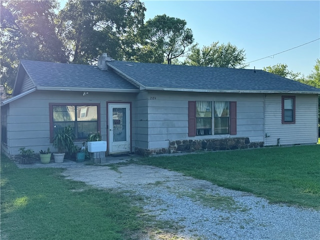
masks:
<svg viewBox="0 0 320 240"><path fill-rule="evenodd" d="M294 124L281 123L281 94L266 94L264 144L276 145L277 138L281 145L316 143L317 121L316 94L295 94Z"/></svg>

